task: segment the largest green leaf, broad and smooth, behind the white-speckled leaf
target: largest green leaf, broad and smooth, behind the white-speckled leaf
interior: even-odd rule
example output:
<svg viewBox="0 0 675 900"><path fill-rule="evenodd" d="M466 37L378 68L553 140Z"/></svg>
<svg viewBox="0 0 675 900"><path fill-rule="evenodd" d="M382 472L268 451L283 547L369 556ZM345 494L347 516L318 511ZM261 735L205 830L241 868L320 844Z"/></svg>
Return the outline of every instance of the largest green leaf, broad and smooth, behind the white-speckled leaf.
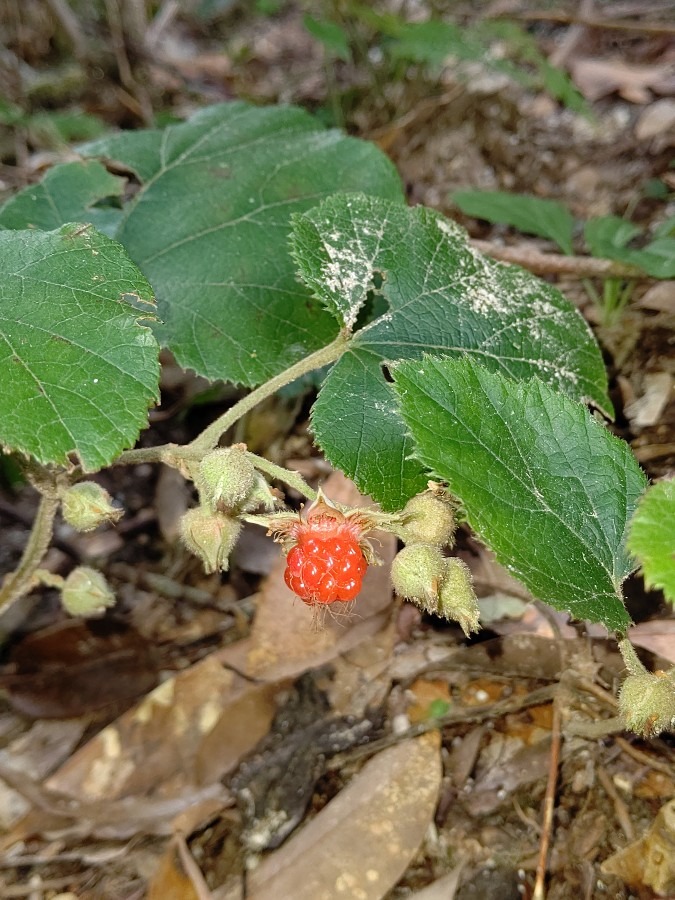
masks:
<svg viewBox="0 0 675 900"><path fill-rule="evenodd" d="M336 333L296 280L291 213L338 189L403 199L373 144L292 107L222 104L83 152L117 160L141 181L116 237L159 298L160 340L182 366L248 386Z"/></svg>

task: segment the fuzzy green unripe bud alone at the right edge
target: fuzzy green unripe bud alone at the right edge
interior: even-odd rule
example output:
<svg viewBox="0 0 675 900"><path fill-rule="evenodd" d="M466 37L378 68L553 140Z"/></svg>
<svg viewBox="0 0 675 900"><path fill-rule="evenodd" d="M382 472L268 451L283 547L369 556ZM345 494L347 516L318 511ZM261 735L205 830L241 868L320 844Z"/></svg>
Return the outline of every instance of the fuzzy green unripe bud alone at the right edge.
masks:
<svg viewBox="0 0 675 900"><path fill-rule="evenodd" d="M626 728L642 737L675 730L675 669L629 675L619 691Z"/></svg>

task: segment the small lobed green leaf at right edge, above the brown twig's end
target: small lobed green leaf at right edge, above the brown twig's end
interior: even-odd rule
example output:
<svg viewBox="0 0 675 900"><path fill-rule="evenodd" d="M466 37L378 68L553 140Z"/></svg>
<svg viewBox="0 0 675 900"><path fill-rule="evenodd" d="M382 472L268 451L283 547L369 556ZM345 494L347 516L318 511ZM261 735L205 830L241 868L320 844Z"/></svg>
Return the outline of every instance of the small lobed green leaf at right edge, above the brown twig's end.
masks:
<svg viewBox="0 0 675 900"><path fill-rule="evenodd" d="M589 219L584 228L586 243L594 256L629 263L653 278L675 277L675 238L659 232L645 247L629 247L640 233L637 225L618 216Z"/></svg>

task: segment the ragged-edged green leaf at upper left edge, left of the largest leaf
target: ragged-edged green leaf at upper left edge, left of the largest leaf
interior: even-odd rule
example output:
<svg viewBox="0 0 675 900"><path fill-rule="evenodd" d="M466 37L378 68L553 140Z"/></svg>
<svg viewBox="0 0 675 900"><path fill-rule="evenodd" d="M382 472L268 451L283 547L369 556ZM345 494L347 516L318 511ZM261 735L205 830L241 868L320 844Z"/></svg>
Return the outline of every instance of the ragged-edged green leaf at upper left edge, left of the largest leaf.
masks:
<svg viewBox="0 0 675 900"><path fill-rule="evenodd" d="M95 160L65 163L10 198L0 209L0 226L52 231L66 222L89 222L112 237L122 218L124 185L124 178ZM102 202L117 202L117 208L97 207Z"/></svg>

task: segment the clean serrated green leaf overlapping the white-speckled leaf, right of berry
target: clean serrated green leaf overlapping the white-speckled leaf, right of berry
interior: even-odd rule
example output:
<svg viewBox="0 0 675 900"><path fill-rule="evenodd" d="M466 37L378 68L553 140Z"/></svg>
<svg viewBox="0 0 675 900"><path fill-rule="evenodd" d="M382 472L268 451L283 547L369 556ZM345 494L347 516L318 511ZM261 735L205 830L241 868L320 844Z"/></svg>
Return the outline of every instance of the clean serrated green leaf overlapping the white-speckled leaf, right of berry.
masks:
<svg viewBox="0 0 675 900"><path fill-rule="evenodd" d="M537 378L472 359L394 368L416 454L497 559L541 600L623 630L628 523L646 479L630 448Z"/></svg>

